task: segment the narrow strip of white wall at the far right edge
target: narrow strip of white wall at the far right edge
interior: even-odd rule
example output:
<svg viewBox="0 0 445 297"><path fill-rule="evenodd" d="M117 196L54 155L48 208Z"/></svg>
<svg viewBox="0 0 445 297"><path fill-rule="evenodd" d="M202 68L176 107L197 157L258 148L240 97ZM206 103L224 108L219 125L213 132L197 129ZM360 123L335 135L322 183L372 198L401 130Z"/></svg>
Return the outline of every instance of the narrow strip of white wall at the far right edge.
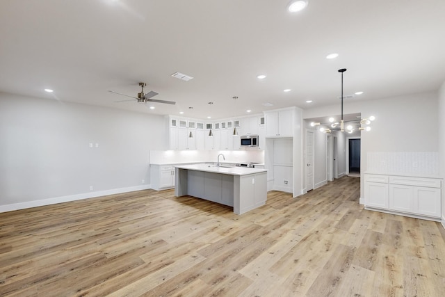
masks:
<svg viewBox="0 0 445 297"><path fill-rule="evenodd" d="M445 81L439 89L439 103L437 109L439 127L439 175L445 180ZM444 182L442 181L442 187ZM445 227L445 189L442 188L442 225Z"/></svg>

